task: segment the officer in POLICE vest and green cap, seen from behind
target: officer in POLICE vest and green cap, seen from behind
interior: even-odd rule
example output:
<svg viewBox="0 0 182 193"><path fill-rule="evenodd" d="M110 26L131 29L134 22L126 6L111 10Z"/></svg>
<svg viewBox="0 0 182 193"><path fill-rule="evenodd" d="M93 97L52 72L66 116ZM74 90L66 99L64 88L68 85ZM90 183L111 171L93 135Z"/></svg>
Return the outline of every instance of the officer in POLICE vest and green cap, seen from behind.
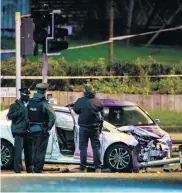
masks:
<svg viewBox="0 0 182 193"><path fill-rule="evenodd" d="M49 133L55 122L54 110L45 98L48 86L46 83L37 84L37 93L28 104L34 173L43 170Z"/></svg>

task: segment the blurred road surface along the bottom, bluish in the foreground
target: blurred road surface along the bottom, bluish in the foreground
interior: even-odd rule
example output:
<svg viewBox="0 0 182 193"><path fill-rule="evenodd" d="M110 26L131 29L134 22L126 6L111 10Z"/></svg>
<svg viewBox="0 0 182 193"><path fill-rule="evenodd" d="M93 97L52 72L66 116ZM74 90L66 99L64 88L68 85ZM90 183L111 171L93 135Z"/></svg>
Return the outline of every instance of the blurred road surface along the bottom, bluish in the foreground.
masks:
<svg viewBox="0 0 182 193"><path fill-rule="evenodd" d="M2 174L2 192L182 192L182 173Z"/></svg>

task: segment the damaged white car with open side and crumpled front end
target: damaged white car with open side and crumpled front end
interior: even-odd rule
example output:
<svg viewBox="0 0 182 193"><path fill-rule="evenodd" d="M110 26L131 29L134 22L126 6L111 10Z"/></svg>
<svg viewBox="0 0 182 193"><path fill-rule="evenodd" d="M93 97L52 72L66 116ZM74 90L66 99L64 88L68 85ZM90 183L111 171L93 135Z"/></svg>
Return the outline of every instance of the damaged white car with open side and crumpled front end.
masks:
<svg viewBox="0 0 182 193"><path fill-rule="evenodd" d="M79 164L80 152L78 116L67 107L54 107L56 124L51 130L45 162ZM11 122L1 120L1 168L13 163ZM170 157L166 133L162 138L134 126L116 128L104 121L100 135L101 161L112 172L132 171L138 162ZM92 148L88 145L88 162L93 162Z"/></svg>

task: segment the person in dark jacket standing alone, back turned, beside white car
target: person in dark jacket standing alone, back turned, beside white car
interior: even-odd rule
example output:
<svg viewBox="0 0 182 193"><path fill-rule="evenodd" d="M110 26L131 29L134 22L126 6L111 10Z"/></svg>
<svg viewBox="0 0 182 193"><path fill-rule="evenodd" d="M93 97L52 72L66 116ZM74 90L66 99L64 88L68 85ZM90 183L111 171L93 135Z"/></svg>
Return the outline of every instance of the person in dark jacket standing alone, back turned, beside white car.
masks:
<svg viewBox="0 0 182 193"><path fill-rule="evenodd" d="M103 105L100 99L95 97L95 91L91 85L85 86L84 97L76 101L73 109L79 114L80 172L86 172L89 138L93 149L95 171L101 172L99 134L103 123L101 117Z"/></svg>

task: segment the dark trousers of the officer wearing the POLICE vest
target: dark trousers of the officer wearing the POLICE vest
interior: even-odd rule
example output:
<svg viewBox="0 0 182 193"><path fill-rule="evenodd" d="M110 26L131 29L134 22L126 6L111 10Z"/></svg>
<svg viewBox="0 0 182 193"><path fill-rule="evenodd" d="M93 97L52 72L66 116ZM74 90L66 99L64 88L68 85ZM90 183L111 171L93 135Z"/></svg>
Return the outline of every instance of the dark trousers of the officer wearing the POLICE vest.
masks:
<svg viewBox="0 0 182 193"><path fill-rule="evenodd" d="M45 134L44 132L35 132L31 134L31 138L33 172L41 173L44 168L49 134Z"/></svg>

